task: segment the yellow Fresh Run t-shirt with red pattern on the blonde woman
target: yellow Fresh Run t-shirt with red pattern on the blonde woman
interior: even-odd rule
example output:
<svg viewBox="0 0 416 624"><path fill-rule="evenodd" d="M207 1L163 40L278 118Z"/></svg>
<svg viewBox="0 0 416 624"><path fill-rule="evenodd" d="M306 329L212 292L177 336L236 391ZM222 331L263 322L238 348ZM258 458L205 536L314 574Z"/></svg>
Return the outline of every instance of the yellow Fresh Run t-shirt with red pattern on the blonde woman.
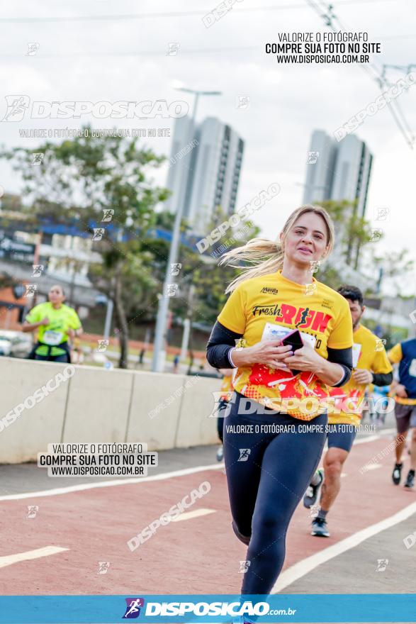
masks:
<svg viewBox="0 0 416 624"><path fill-rule="evenodd" d="M280 338L279 328L283 334L298 329L303 340L314 343L317 353L326 359L327 347L352 346L351 313L347 299L312 279L306 286L296 284L280 271L247 279L232 292L218 322L242 334L247 347L260 342L265 333ZM247 398L300 420L312 420L325 411L319 401L330 391L313 372L293 375L266 364L239 367L233 385Z"/></svg>

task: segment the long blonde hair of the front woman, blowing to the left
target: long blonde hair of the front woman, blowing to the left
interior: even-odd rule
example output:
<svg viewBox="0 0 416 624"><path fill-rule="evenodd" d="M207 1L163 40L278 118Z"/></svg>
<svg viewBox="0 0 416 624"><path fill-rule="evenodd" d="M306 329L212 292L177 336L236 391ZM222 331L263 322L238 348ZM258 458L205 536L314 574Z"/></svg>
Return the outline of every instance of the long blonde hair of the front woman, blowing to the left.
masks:
<svg viewBox="0 0 416 624"><path fill-rule="evenodd" d="M283 267L283 258L285 255L284 244L288 231L293 227L297 219L305 213L313 212L322 217L327 227L327 255L330 254L332 247L334 246L335 231L334 223L329 213L322 208L322 206L313 206L312 204L305 204L296 208L289 216L286 223L283 225L282 233L283 240L280 243L279 239L269 240L268 238L252 238L245 245L232 249L226 252L221 257L219 264L227 264L235 269L243 269L242 273L232 280L227 286L225 293L232 292L246 279L252 277L260 277L261 275L267 275L279 271ZM244 267L240 262L249 262L254 265L252 267ZM235 262L238 262L235 264Z"/></svg>

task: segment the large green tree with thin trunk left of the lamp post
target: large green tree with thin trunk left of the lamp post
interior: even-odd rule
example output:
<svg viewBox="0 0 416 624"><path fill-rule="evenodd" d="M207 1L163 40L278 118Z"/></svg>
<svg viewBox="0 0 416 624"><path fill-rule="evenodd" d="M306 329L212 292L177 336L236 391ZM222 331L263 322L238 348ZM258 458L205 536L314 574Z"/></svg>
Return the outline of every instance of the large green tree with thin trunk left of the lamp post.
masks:
<svg viewBox="0 0 416 624"><path fill-rule="evenodd" d="M140 257L140 238L135 233L154 225L154 207L169 196L167 189L154 186L150 178L152 169L159 167L164 157L138 146L137 139L96 137L91 126L85 126L80 133L59 144L45 142L35 150L3 150L0 157L10 160L23 177L28 214L76 223L91 238L94 228L103 228L102 239L94 243L103 262L91 265L90 277L114 302L120 330L119 365L125 368L126 307L134 300L133 291L142 294L153 283L151 267L145 263L145 256ZM33 152L44 154L35 167L31 165ZM114 211L111 221L103 221L108 210Z"/></svg>

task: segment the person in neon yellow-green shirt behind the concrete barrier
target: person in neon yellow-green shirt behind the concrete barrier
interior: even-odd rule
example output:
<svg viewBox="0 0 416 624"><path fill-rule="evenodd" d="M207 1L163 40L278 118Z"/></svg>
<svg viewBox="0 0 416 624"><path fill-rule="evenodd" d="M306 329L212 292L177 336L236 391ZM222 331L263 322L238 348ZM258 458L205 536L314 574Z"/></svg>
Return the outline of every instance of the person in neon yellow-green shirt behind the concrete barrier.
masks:
<svg viewBox="0 0 416 624"><path fill-rule="evenodd" d="M38 330L38 342L33 349L35 360L70 362L68 338L82 333L81 321L74 309L64 304L62 286L52 286L48 299L30 310L22 331Z"/></svg>

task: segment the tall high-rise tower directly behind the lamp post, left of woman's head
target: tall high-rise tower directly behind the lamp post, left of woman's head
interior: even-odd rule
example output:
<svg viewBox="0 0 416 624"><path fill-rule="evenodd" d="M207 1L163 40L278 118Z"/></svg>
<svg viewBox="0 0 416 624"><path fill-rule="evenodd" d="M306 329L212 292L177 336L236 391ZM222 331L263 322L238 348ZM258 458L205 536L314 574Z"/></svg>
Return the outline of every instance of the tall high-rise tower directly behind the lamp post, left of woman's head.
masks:
<svg viewBox="0 0 416 624"><path fill-rule="evenodd" d="M176 119L167 188L167 208L176 212L184 204L184 218L203 233L213 210L235 211L244 141L235 130L213 117L191 126L188 117Z"/></svg>

